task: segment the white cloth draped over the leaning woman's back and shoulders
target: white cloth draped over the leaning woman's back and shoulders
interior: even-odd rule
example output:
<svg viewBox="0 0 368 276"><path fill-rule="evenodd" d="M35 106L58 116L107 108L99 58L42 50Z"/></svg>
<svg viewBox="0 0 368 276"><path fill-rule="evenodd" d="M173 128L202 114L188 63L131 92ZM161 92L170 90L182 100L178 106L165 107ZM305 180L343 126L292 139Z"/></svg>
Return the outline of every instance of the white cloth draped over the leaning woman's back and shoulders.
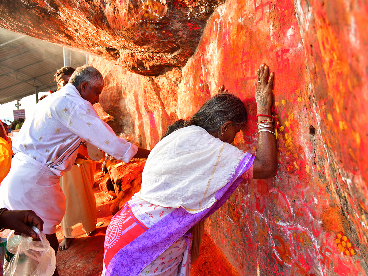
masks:
<svg viewBox="0 0 368 276"><path fill-rule="evenodd" d="M152 204L198 213L216 202L218 190L244 173L236 168L245 155L201 127L180 128L152 149L136 195Z"/></svg>

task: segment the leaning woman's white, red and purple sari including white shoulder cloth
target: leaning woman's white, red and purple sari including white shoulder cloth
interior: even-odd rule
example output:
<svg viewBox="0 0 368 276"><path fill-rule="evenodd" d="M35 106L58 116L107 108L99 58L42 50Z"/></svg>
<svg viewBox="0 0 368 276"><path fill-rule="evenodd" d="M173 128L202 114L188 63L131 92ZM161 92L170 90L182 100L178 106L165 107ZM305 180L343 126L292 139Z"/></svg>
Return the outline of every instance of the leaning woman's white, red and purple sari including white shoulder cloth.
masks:
<svg viewBox="0 0 368 276"><path fill-rule="evenodd" d="M182 237L190 248L188 231L224 204L253 161L251 154L197 126L181 128L162 139L147 159L141 191L112 218L107 228L103 275L163 272L153 267L158 256L178 241L176 246L181 248ZM147 208L152 208L152 212L139 211L144 204L138 198L150 204ZM132 220L141 226L129 224ZM128 224L138 228L129 231L125 226ZM134 236L137 231L139 234ZM128 236L131 241L119 247L120 240L127 240ZM187 252L187 261L180 262L183 268L190 267L190 250Z"/></svg>

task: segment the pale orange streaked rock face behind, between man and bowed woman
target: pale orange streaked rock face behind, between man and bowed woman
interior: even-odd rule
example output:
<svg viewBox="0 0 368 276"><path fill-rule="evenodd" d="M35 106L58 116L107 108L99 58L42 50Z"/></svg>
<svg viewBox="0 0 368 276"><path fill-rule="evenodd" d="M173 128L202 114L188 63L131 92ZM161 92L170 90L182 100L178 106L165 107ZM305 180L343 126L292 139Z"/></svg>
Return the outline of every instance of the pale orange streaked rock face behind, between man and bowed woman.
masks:
<svg viewBox="0 0 368 276"><path fill-rule="evenodd" d="M167 125L178 119L177 92L182 80L181 71L174 67L158 77L148 77L99 57L90 56L89 62L105 76L99 104L111 116L120 118L116 121L121 125L113 127L114 131L152 149L166 132ZM100 117L104 116L101 110L97 111Z"/></svg>

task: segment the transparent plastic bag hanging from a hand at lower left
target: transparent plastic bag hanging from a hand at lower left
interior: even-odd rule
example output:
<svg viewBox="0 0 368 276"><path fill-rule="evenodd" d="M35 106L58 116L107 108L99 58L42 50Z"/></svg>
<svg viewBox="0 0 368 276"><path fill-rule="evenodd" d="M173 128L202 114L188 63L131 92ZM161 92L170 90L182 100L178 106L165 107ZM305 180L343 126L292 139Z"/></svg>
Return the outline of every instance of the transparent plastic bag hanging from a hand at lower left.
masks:
<svg viewBox="0 0 368 276"><path fill-rule="evenodd" d="M11 258L4 270L4 276L52 276L55 271L55 251L51 248L46 235L38 228L32 227L40 237L33 241L22 234L17 253Z"/></svg>

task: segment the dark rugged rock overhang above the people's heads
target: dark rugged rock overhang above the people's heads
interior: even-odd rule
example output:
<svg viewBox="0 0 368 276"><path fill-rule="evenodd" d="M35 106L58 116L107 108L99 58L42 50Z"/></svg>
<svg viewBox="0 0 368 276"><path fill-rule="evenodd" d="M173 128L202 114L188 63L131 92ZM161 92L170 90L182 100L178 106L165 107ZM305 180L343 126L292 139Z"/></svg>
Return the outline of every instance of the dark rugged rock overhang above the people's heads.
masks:
<svg viewBox="0 0 368 276"><path fill-rule="evenodd" d="M223 2L3 0L0 27L103 56L138 74L158 75L185 65L213 8Z"/></svg>

